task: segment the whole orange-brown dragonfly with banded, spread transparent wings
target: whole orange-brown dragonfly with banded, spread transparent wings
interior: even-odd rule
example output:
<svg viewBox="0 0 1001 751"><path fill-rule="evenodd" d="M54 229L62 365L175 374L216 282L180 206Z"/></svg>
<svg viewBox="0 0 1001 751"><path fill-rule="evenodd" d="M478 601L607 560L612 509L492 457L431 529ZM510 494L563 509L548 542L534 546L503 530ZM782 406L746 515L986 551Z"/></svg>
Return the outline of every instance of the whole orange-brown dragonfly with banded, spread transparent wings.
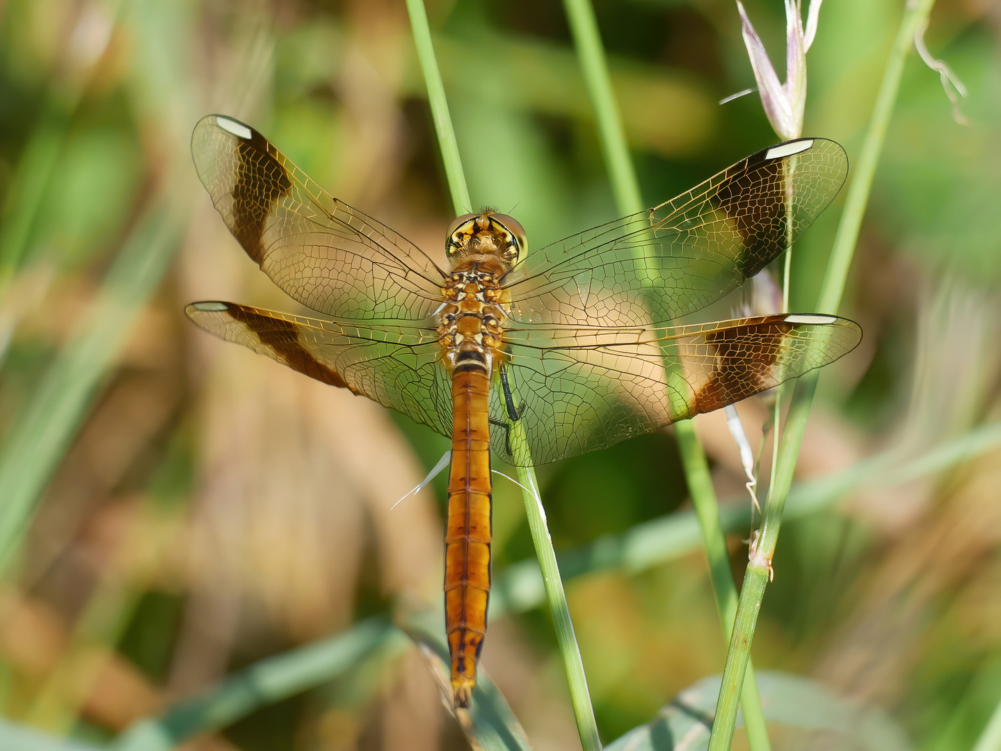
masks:
<svg viewBox="0 0 1001 751"><path fill-rule="evenodd" d="M198 177L239 244L314 315L187 306L205 331L397 410L451 440L445 631L455 707L486 633L490 456L520 466L611 446L826 365L860 327L821 313L686 323L762 271L841 189L821 138L763 149L652 209L528 252L491 209L428 254L334 198L260 133L208 115Z"/></svg>

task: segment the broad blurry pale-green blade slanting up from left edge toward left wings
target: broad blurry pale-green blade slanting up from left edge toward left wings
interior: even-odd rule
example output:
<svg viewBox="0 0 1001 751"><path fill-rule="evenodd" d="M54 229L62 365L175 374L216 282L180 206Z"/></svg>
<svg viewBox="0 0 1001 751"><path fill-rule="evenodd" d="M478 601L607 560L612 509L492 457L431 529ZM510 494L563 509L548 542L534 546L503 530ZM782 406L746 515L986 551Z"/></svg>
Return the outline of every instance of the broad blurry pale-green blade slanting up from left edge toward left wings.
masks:
<svg viewBox="0 0 1001 751"><path fill-rule="evenodd" d="M168 192L167 195L176 195ZM76 435L140 307L180 240L182 211L157 202L126 240L89 310L56 356L0 450L0 566Z"/></svg>

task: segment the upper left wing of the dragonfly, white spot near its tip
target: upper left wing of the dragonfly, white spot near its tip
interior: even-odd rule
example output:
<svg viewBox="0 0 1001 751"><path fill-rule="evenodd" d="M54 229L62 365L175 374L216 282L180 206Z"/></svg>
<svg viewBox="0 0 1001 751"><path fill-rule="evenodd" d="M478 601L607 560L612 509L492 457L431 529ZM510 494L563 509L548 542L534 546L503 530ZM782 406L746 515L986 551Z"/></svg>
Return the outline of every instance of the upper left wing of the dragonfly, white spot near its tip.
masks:
<svg viewBox="0 0 1001 751"><path fill-rule="evenodd" d="M195 169L240 245L288 295L339 319L421 320L442 272L415 245L334 198L260 133L208 115Z"/></svg>

